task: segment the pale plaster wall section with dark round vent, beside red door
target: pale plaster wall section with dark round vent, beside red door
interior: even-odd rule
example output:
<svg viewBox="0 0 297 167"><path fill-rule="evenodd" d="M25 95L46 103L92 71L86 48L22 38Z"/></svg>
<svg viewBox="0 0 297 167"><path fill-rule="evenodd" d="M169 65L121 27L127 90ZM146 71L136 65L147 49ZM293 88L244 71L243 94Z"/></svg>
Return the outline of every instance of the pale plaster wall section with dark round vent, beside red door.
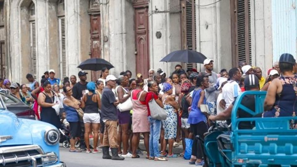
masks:
<svg viewBox="0 0 297 167"><path fill-rule="evenodd" d="M158 11L170 11L170 7L176 5L179 5L179 1L151 0L149 1L149 13L155 10L155 6ZM160 39L156 37L157 31L162 34ZM177 63L159 61L170 52L181 49L180 38L179 13L160 12L149 15L150 67L155 70L161 68L169 76Z"/></svg>

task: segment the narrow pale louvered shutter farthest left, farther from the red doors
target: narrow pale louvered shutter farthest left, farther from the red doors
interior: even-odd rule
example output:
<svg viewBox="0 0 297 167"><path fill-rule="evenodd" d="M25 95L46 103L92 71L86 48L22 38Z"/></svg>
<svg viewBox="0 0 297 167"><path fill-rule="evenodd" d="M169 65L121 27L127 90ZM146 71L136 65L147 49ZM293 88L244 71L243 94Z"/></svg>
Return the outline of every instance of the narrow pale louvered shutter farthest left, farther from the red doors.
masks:
<svg viewBox="0 0 297 167"><path fill-rule="evenodd" d="M31 72L35 79L37 79L37 55L36 55L36 24L35 21L30 22L30 32L31 32Z"/></svg>

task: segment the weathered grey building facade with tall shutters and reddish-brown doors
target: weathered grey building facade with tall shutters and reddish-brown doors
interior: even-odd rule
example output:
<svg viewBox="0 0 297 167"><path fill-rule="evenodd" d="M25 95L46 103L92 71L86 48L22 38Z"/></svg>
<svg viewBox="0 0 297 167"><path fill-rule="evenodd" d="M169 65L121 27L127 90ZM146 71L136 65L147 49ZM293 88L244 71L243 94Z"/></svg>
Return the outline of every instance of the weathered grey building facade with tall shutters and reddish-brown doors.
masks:
<svg viewBox="0 0 297 167"><path fill-rule="evenodd" d="M291 1L284 1L288 5L283 8L290 8ZM216 71L237 66L240 61L265 71L279 56L274 49L286 51L274 45L282 27L273 27L272 21L286 19L273 16L282 10L274 6L277 3L0 0L1 77L26 83L27 73L40 79L49 69L59 78L77 75L77 66L88 58L110 61L115 66L110 73L116 75L130 70L133 75L147 76L149 68L161 68L168 74L176 63L159 60L179 49L197 50L212 58ZM203 70L201 64L187 66ZM98 75L92 72L88 78L95 80Z"/></svg>

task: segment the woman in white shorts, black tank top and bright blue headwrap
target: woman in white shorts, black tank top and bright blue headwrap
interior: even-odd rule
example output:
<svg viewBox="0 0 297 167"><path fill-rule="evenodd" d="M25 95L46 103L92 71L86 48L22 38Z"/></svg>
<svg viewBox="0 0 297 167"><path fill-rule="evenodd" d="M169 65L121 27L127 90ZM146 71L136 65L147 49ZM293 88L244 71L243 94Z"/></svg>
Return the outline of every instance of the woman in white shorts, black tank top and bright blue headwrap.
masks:
<svg viewBox="0 0 297 167"><path fill-rule="evenodd" d="M101 100L98 94L95 94L96 85L94 82L87 84L88 93L83 95L81 107L84 108L84 141L86 143L86 153L90 153L89 135L93 130L94 133L94 150L98 153L97 143L99 139L100 115L98 108L101 109Z"/></svg>

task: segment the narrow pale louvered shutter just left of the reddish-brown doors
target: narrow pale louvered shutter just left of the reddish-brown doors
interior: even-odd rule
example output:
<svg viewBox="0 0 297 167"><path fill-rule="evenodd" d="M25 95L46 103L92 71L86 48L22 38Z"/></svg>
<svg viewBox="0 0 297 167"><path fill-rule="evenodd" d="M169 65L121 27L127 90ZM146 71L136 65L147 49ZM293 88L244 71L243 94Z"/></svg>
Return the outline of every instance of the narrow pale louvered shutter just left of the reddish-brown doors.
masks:
<svg viewBox="0 0 297 167"><path fill-rule="evenodd" d="M60 69L62 78L67 76L65 17L59 18Z"/></svg>

